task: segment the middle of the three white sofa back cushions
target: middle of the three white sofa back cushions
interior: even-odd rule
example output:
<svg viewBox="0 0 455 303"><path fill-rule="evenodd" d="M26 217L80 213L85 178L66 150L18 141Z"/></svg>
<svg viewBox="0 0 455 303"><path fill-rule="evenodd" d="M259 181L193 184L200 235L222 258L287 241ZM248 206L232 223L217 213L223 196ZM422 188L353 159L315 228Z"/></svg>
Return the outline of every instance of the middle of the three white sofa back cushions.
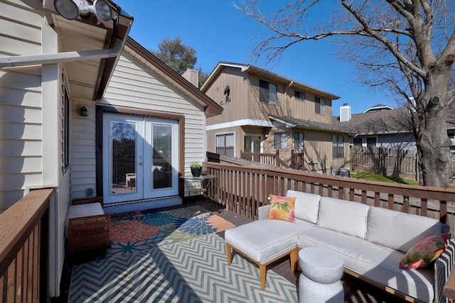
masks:
<svg viewBox="0 0 455 303"><path fill-rule="evenodd" d="M358 202L321 197L317 226L365 238L370 207Z"/></svg>

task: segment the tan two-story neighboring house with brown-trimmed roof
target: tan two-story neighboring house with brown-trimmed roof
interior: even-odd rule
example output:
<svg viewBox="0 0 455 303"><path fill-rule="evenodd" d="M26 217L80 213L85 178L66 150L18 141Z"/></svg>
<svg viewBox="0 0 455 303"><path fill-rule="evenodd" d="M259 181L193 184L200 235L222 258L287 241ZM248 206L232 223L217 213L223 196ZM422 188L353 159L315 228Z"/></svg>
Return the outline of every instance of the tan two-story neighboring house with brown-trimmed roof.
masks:
<svg viewBox="0 0 455 303"><path fill-rule="evenodd" d="M290 164L297 150L308 169L311 159L322 172L348 167L350 132L332 121L335 94L230 62L219 62L201 90L223 106L223 114L207 119L208 151L240 157L279 150Z"/></svg>

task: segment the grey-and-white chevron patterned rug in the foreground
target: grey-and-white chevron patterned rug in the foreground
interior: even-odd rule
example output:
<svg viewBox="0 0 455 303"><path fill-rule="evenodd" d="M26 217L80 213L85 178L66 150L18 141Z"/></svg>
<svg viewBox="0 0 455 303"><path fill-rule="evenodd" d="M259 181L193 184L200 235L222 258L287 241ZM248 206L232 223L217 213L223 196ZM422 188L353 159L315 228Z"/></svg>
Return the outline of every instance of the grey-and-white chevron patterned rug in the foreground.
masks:
<svg viewBox="0 0 455 303"><path fill-rule="evenodd" d="M68 302L297 302L296 285L259 269L209 233L73 268Z"/></svg>

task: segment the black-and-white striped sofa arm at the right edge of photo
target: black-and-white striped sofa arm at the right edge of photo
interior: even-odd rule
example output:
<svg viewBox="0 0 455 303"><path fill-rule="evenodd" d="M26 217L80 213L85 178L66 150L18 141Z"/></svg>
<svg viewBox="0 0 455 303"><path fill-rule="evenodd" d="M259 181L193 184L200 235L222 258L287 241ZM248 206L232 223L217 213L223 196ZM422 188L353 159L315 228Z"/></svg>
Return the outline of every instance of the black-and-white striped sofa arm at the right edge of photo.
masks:
<svg viewBox="0 0 455 303"><path fill-rule="evenodd" d="M455 264L455 240L450 239L444 253L434 262L434 302L449 302L444 296L444 286L454 270Z"/></svg>

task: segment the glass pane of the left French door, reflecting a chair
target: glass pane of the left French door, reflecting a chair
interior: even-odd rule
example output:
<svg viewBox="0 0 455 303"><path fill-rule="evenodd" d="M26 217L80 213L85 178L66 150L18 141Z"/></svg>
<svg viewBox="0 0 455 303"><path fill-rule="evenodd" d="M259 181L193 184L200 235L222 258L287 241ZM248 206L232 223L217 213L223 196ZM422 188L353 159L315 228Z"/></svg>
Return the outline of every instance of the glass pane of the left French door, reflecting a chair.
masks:
<svg viewBox="0 0 455 303"><path fill-rule="evenodd" d="M136 123L112 121L111 193L136 192Z"/></svg>

